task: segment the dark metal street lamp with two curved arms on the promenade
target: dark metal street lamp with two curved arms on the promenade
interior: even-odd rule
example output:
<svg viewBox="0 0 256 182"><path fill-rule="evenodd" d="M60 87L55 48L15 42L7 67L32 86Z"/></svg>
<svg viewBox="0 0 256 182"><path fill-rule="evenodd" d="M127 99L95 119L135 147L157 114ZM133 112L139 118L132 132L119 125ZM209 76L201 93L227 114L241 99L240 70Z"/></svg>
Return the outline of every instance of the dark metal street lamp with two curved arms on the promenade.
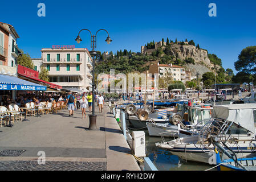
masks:
<svg viewBox="0 0 256 182"><path fill-rule="evenodd" d="M96 130L96 117L97 117L97 115L95 115L95 108L94 108L94 106L95 106L94 64L95 64L95 56L97 55L97 51L95 51L96 36L97 36L97 32L99 32L101 30L107 32L107 34L108 34L108 31L105 30L105 29L100 29L100 30L96 31L95 35L92 35L90 30L82 29L78 32L78 37L75 39L78 44L82 41L82 39L80 38L79 35L80 35L80 32L82 32L83 30L87 30L91 34L91 48L92 48L92 51L90 51L90 55L92 56L92 115L89 115L89 118L90 118L89 129L90 130ZM107 42L108 44L110 44L112 42L112 40L109 38L109 34L108 34L108 37L105 40L105 42Z"/></svg>

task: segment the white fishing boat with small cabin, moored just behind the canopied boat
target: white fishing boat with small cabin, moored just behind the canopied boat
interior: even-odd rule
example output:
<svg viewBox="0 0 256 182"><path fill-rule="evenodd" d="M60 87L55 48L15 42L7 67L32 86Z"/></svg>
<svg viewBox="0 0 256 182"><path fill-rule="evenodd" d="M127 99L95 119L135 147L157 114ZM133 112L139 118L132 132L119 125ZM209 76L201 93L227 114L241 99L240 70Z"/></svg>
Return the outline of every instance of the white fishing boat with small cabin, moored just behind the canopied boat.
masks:
<svg viewBox="0 0 256 182"><path fill-rule="evenodd" d="M192 107L184 107L182 113L180 113L180 121L177 121L176 114L173 113L169 117L168 123L155 123L155 122L147 122L147 129L150 136L155 137L185 137L186 135L192 135L191 133L197 132L206 122L208 122L211 118L211 112L213 107L208 106L192 106ZM185 119L184 116L187 116ZM174 118L176 117L176 118ZM183 121L182 121L183 120ZM178 131L177 123L182 122L182 129L180 133Z"/></svg>

